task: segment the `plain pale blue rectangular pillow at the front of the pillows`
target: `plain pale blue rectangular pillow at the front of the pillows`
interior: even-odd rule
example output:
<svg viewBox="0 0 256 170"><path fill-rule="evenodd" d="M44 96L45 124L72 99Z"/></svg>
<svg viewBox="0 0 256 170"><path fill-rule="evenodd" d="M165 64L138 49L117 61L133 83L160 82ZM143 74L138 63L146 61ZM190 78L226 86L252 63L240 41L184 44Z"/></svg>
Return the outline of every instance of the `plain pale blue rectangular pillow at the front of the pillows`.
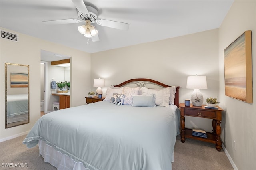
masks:
<svg viewBox="0 0 256 170"><path fill-rule="evenodd" d="M132 95L132 106L156 107L155 95Z"/></svg>

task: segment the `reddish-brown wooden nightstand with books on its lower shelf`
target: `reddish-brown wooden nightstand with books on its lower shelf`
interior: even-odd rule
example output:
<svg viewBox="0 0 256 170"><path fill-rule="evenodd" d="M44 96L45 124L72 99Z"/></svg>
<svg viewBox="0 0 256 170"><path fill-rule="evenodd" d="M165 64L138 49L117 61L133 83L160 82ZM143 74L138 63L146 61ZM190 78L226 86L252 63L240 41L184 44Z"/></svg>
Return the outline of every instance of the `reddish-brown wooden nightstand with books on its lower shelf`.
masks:
<svg viewBox="0 0 256 170"><path fill-rule="evenodd" d="M180 127L181 127L181 142L185 142L186 138L193 138L196 140L201 140L204 142L214 143L216 146L216 150L221 150L221 114L223 109L218 107L218 109L206 109L205 105L202 106L185 106L184 103L180 103ZM201 138L197 136L192 136L192 129L185 128L185 116L193 116L193 117L202 117L212 119L212 133L206 132L207 138Z"/></svg>

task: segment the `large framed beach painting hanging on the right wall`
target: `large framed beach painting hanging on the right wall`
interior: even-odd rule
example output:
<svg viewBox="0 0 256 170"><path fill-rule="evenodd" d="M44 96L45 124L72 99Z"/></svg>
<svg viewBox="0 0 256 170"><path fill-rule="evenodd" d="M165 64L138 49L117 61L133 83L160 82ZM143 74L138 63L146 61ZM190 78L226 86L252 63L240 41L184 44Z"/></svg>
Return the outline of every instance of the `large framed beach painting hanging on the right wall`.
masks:
<svg viewBox="0 0 256 170"><path fill-rule="evenodd" d="M252 103L252 31L224 49L225 95Z"/></svg>

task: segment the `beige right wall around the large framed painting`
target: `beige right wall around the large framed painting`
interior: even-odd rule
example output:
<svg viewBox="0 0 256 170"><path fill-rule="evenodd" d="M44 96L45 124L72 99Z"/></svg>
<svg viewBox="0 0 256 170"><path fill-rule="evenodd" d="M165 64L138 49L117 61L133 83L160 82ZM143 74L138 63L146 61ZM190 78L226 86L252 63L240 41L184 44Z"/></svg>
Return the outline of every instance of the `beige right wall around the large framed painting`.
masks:
<svg viewBox="0 0 256 170"><path fill-rule="evenodd" d="M244 31L252 30L253 103L225 96L223 51ZM219 96L222 116L222 141L240 170L256 168L256 1L234 1L219 28ZM236 141L236 150L233 148Z"/></svg>

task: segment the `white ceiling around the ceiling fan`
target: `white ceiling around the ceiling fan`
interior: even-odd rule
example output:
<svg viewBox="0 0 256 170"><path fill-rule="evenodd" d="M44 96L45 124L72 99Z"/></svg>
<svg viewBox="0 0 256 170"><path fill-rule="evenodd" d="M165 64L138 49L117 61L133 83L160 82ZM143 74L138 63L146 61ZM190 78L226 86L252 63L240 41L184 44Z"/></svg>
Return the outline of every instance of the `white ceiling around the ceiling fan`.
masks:
<svg viewBox="0 0 256 170"><path fill-rule="evenodd" d="M93 23L100 41L89 40L87 45L87 38L77 29L85 22L42 23L78 19L71 0L0 0L0 24L16 32L96 53L219 28L233 0L86 0L84 3L98 10L98 18L129 23L129 30Z"/></svg>

